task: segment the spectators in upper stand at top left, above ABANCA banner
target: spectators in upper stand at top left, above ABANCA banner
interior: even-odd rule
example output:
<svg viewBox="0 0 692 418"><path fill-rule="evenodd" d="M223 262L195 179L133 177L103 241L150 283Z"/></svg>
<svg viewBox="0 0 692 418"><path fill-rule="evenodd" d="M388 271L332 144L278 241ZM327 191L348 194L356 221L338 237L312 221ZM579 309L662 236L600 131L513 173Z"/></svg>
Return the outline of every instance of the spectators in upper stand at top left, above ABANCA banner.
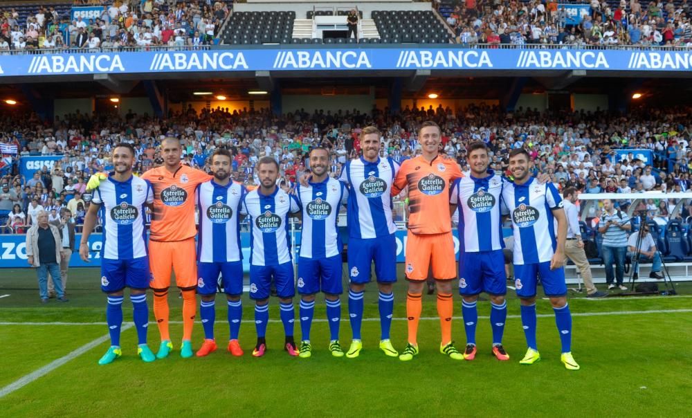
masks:
<svg viewBox="0 0 692 418"><path fill-rule="evenodd" d="M168 3L171 3L169 6ZM173 5L174 3L174 5ZM208 0L109 1L100 18L70 20L55 8L37 6L20 24L14 8L0 8L0 53L54 48L203 46L212 44L230 11Z"/></svg>

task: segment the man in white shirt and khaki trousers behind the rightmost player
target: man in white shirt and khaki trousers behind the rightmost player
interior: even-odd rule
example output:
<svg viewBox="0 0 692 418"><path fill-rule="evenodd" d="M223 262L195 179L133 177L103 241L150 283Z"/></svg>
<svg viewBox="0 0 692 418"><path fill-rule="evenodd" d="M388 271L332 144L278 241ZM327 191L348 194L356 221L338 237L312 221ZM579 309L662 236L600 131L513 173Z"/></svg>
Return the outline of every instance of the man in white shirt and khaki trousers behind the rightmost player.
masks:
<svg viewBox="0 0 692 418"><path fill-rule="evenodd" d="M567 215L567 241L565 241L565 265L567 258L574 262L574 265L579 269L581 278L584 280L587 298L603 298L608 293L599 291L594 285L594 280L591 275L591 266L586 258L584 251L584 241L581 237L581 228L579 228L579 211L574 203L577 201L577 190L575 188L565 188L563 191L563 203L565 215Z"/></svg>

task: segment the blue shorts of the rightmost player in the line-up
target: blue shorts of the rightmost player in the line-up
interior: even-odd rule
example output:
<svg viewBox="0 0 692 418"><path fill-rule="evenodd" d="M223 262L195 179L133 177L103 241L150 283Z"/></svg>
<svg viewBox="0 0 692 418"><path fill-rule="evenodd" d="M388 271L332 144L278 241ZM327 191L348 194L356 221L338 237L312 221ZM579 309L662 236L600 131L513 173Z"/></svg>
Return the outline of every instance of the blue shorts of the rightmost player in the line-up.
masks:
<svg viewBox="0 0 692 418"><path fill-rule="evenodd" d="M565 296L567 284L565 284L565 268L551 270L550 262L538 264L514 264L514 287L520 298L533 298L536 296L536 282L540 275L540 283L543 284L545 296Z"/></svg>

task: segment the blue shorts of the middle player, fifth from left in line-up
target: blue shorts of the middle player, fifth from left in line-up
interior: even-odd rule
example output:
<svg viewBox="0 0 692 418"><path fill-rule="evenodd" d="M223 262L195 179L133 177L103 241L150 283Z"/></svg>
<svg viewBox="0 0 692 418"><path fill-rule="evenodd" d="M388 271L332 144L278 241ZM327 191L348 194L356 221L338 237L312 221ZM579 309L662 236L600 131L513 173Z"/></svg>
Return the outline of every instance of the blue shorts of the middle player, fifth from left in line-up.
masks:
<svg viewBox="0 0 692 418"><path fill-rule="evenodd" d="M300 257L298 259L298 293L312 295L321 290L324 293L340 295L343 293L342 264L340 254L317 260Z"/></svg>

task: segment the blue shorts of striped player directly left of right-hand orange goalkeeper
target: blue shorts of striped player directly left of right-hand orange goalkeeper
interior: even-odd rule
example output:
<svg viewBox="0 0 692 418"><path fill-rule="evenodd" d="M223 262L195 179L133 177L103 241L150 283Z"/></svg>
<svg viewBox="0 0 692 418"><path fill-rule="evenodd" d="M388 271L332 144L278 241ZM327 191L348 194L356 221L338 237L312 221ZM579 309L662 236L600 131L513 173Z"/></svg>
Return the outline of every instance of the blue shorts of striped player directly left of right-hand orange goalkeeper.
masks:
<svg viewBox="0 0 692 418"><path fill-rule="evenodd" d="M394 234L381 238L349 238L348 269L351 282L369 283L373 261L378 282L397 281L397 237Z"/></svg>

